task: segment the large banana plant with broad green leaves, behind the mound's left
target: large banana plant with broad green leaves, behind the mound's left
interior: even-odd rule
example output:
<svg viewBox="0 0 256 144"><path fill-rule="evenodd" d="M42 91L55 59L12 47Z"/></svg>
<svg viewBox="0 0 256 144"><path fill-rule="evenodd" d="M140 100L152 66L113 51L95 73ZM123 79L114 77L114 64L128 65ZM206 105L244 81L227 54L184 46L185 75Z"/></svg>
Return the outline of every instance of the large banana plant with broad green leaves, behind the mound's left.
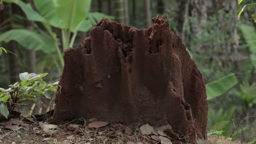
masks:
<svg viewBox="0 0 256 144"><path fill-rule="evenodd" d="M64 65L62 52L68 47L73 47L77 33L88 31L102 17L113 19L112 16L102 13L89 13L91 0L33 0L39 13L30 3L24 3L21 0L3 0L3 2L19 5L27 19L34 21L33 26L37 31L11 29L0 35L0 41L8 43L14 40L26 49L42 50L51 55L57 53L59 60L55 59L54 62L59 73ZM39 28L36 22L40 22L44 28ZM52 27L61 29L62 49Z"/></svg>

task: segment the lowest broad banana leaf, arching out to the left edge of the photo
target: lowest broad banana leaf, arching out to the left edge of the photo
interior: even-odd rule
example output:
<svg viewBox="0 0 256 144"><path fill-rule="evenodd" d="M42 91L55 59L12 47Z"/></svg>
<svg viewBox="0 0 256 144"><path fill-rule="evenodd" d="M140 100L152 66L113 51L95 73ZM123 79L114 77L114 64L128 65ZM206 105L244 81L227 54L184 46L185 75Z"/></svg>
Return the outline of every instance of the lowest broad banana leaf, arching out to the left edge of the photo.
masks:
<svg viewBox="0 0 256 144"><path fill-rule="evenodd" d="M53 40L45 35L27 29L13 29L0 35L0 42L14 40L28 50L42 50L45 53L55 52Z"/></svg>

